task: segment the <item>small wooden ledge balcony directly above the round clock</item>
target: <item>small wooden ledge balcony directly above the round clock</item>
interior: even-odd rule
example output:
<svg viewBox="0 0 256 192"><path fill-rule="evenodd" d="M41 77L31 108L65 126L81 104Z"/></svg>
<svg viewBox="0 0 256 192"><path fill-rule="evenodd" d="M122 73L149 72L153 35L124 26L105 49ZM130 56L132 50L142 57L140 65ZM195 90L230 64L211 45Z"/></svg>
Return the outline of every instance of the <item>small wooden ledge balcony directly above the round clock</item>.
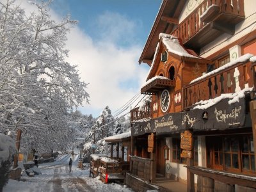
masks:
<svg viewBox="0 0 256 192"><path fill-rule="evenodd" d="M149 80L150 81L150 80ZM150 83L143 86L140 90L141 94L156 95L159 90L175 86L175 81L171 79L154 79Z"/></svg>

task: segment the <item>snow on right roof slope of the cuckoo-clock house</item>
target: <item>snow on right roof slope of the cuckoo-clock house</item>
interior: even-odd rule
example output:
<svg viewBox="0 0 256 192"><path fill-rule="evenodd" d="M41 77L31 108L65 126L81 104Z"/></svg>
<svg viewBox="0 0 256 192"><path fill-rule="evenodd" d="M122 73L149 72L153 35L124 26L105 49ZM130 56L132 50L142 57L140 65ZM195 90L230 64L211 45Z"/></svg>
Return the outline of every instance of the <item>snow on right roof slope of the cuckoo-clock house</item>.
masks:
<svg viewBox="0 0 256 192"><path fill-rule="evenodd" d="M183 57L200 59L199 57L193 56L193 54L189 54L189 52L180 44L180 41L176 36L160 33L159 39L161 38L163 44L168 49L168 52L172 52Z"/></svg>

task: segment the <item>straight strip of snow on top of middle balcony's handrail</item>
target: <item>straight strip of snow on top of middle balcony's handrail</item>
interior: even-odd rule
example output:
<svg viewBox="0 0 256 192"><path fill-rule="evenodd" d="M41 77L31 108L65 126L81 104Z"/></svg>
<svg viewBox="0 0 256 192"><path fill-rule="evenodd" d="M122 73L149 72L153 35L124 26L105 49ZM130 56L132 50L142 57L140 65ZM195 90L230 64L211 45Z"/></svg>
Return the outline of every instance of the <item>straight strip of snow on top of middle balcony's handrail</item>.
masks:
<svg viewBox="0 0 256 192"><path fill-rule="evenodd" d="M250 58L252 58L252 56L253 56L253 54L250 54L250 53L244 54L243 56L237 58L237 60L230 61L229 63L227 63L227 64L225 64L225 65L223 65L219 68L216 68L215 70L212 70L211 72L205 74L204 76L201 76L201 77L198 77L198 78L194 79L189 84L195 83L196 81L200 81L201 79L204 79L205 77L216 74L216 73L220 72L221 70L224 70L225 68L231 67L232 65L236 65L236 63L241 63L241 62L248 61Z"/></svg>

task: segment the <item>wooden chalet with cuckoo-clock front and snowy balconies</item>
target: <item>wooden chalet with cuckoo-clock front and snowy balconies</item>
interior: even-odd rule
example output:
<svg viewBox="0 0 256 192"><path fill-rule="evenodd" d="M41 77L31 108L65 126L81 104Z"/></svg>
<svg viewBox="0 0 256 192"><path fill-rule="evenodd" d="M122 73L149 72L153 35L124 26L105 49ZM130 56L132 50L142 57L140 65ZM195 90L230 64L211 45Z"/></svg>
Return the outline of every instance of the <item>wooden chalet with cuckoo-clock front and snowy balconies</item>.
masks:
<svg viewBox="0 0 256 192"><path fill-rule="evenodd" d="M152 100L131 110L129 186L256 190L255 55L254 0L163 0L139 60Z"/></svg>

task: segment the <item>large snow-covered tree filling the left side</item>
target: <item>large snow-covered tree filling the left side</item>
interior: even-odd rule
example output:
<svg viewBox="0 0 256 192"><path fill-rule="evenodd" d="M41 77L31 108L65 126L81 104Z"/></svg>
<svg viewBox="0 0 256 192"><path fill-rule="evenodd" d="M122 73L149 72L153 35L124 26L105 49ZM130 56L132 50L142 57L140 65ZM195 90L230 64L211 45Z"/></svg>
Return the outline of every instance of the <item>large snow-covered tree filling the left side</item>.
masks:
<svg viewBox="0 0 256 192"><path fill-rule="evenodd" d="M30 145L53 150L69 142L65 117L89 95L65 61L76 21L52 20L49 2L34 5L38 11L27 16L15 1L0 2L0 132L21 129Z"/></svg>

